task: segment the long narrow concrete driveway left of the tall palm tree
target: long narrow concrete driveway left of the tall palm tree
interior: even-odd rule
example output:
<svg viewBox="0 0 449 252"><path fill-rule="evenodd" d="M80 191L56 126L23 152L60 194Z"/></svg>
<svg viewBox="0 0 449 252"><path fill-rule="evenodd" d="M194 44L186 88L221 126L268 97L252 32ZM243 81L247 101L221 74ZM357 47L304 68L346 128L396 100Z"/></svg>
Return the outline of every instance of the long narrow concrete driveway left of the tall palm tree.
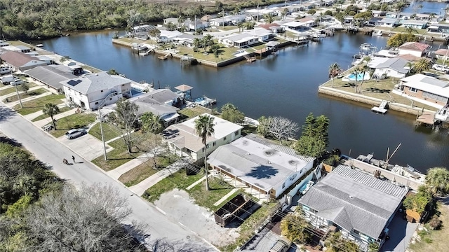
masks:
<svg viewBox="0 0 449 252"><path fill-rule="evenodd" d="M170 174L179 171L182 167L185 167L185 165L187 165L188 163L189 163L188 160L185 160L184 158L177 160L173 164L166 167L166 169L156 172L155 174L149 176L147 179L138 183L135 186L131 186L129 190L133 191L136 195L142 196L148 188L156 185L156 183L165 179Z"/></svg>

